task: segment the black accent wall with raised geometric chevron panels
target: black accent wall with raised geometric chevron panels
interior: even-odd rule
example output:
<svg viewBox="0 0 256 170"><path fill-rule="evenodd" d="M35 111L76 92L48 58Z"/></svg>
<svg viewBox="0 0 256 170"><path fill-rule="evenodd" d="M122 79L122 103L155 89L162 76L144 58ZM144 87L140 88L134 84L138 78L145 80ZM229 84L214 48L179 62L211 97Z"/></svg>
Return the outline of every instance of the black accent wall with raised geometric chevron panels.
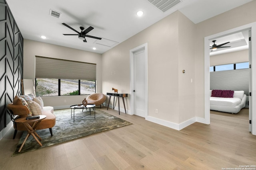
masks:
<svg viewBox="0 0 256 170"><path fill-rule="evenodd" d="M11 119L6 104L21 94L23 37L5 0L0 0L0 131Z"/></svg>

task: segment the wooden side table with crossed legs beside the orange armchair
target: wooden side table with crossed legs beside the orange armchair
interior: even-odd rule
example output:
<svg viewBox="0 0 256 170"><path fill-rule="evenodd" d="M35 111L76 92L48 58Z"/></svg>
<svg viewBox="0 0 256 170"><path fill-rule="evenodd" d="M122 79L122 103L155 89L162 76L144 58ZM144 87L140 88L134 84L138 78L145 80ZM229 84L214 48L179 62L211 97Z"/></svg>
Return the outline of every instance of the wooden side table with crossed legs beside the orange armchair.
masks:
<svg viewBox="0 0 256 170"><path fill-rule="evenodd" d="M28 134L27 136L25 137L22 145L20 146L20 149L18 150L18 152L20 152L20 150L22 149L22 147L24 146L26 140L28 139L28 137L30 135L32 135L34 137L34 139L36 139L37 143L42 147L42 143L40 143L40 141L42 141L42 138L36 133L36 127L39 125L39 123L42 121L42 119L45 119L46 118L46 115L40 115L39 118L37 119L29 119L29 120L26 120L26 117L21 117L19 119L16 119L14 120L15 123L22 123L27 131L28 131ZM30 126L29 123L33 123L32 126ZM38 139L40 140L38 140Z"/></svg>

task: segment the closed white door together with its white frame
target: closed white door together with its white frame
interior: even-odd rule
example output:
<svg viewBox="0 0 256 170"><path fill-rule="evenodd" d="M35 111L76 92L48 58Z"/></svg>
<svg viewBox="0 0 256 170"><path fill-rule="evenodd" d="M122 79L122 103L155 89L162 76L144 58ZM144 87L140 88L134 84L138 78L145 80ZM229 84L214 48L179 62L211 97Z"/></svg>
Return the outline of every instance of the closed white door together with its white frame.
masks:
<svg viewBox="0 0 256 170"><path fill-rule="evenodd" d="M130 50L131 112L148 116L147 43Z"/></svg>

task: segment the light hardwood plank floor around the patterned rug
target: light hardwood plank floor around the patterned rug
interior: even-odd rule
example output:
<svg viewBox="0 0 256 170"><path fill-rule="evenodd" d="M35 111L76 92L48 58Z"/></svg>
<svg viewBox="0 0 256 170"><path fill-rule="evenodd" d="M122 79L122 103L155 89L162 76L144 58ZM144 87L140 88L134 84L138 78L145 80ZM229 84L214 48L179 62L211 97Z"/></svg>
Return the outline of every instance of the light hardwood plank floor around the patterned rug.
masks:
<svg viewBox="0 0 256 170"><path fill-rule="evenodd" d="M133 124L14 157L21 133L13 140L11 129L0 141L0 170L222 170L256 165L248 109L238 114L211 111L210 125L194 123L180 131L102 110Z"/></svg>

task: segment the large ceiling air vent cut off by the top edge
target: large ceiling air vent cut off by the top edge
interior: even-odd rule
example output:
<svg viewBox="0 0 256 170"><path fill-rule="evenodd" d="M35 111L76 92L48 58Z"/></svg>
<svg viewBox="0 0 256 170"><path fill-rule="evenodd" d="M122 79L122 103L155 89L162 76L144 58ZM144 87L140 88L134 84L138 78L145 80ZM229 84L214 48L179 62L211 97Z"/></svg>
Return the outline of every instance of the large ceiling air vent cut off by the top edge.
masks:
<svg viewBox="0 0 256 170"><path fill-rule="evenodd" d="M162 12L166 12L170 8L182 2L182 0L148 0L151 4L156 6Z"/></svg>

